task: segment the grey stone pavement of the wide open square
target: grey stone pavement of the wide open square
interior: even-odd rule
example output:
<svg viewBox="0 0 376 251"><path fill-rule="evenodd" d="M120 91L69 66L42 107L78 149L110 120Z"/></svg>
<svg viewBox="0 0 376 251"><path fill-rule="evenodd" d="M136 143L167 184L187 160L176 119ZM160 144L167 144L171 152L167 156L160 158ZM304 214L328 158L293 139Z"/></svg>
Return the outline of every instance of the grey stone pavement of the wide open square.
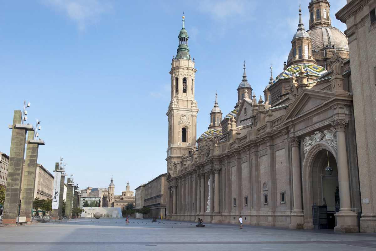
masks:
<svg viewBox="0 0 376 251"><path fill-rule="evenodd" d="M206 224L204 222L204 224ZM340 250L376 251L376 234L338 234L333 230L206 224L151 219L72 219L0 228L0 250Z"/></svg>

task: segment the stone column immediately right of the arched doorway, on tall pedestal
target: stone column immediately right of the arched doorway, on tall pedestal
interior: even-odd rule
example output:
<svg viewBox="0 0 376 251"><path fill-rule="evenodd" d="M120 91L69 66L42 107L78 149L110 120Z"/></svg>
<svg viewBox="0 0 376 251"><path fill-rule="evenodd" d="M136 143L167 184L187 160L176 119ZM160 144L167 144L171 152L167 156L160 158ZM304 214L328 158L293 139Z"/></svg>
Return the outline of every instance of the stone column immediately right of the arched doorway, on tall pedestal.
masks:
<svg viewBox="0 0 376 251"><path fill-rule="evenodd" d="M345 128L348 121L337 119L332 122L337 135L337 166L338 166L338 185L340 189L340 211L335 214L337 226L334 231L355 233L358 232L358 223L356 213L351 210L350 203L350 184L349 184L349 166L347 164L347 150Z"/></svg>

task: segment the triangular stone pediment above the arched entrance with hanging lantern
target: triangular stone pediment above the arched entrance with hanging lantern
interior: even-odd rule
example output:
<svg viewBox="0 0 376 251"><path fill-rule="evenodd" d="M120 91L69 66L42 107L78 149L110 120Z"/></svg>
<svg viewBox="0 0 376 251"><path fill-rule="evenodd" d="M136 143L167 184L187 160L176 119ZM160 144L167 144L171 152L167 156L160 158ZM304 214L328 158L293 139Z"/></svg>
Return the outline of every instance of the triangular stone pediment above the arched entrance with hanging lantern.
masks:
<svg viewBox="0 0 376 251"><path fill-rule="evenodd" d="M301 116L315 108L319 108L334 96L334 93L327 91L305 89L293 103L290 103L283 120L293 119L294 117Z"/></svg>

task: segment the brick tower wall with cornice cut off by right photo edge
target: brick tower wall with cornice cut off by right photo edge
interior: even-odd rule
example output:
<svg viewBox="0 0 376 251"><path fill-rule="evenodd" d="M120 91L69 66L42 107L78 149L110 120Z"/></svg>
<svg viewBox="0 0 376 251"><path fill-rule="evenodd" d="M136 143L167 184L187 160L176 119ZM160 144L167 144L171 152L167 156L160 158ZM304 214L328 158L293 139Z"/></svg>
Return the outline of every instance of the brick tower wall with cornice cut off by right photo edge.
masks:
<svg viewBox="0 0 376 251"><path fill-rule="evenodd" d="M362 215L360 230L376 232L376 1L347 0L336 17L349 38Z"/></svg>

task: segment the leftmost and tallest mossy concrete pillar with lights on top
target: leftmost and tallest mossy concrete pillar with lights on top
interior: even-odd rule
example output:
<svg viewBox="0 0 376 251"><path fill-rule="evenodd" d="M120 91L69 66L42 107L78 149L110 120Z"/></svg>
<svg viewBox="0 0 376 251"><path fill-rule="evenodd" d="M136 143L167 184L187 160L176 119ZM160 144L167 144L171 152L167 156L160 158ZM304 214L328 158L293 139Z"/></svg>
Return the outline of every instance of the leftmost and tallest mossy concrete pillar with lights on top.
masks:
<svg viewBox="0 0 376 251"><path fill-rule="evenodd" d="M9 152L8 178L6 184L3 224L15 224L20 208L22 171L25 155L26 131L33 131L32 125L21 124L22 112L14 111L11 150Z"/></svg>

